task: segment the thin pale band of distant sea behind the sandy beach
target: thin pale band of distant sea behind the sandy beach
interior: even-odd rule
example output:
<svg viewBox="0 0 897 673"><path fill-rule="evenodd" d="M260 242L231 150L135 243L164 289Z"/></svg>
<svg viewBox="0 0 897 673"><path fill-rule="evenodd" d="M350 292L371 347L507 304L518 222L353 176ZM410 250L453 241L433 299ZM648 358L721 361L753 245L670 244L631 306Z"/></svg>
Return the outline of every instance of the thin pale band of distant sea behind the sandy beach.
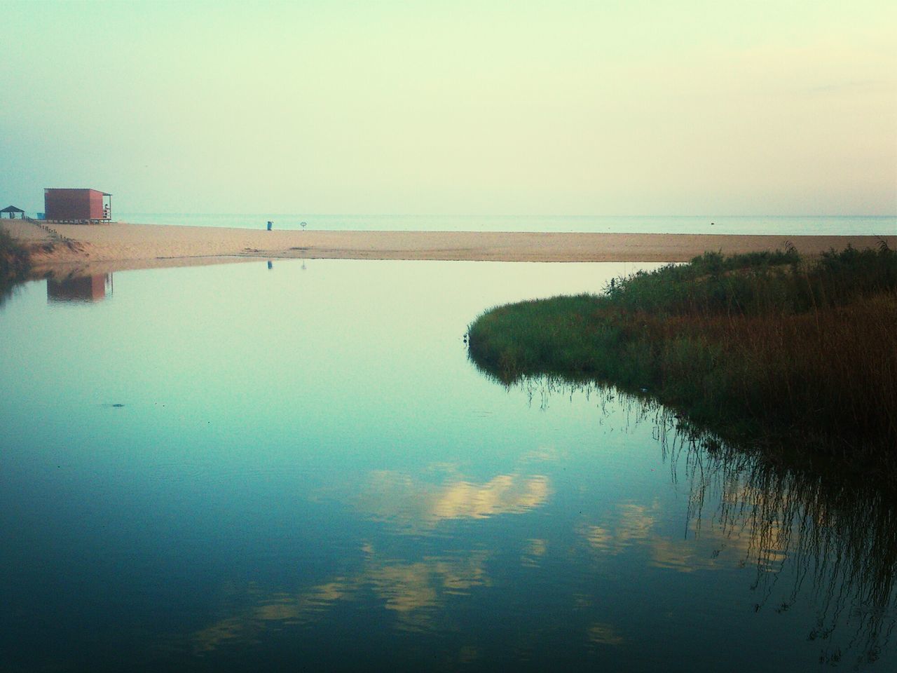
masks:
<svg viewBox="0 0 897 673"><path fill-rule="evenodd" d="M552 216L116 213L130 223L335 232L619 232L798 235L897 234L897 216Z"/></svg>

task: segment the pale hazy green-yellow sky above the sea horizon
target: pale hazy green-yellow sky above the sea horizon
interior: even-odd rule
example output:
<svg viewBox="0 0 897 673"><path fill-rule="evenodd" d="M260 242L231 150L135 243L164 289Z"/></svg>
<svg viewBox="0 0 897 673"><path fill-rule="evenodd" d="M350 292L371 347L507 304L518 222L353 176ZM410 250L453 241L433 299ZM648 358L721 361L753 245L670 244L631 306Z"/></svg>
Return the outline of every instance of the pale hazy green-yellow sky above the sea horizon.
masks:
<svg viewBox="0 0 897 673"><path fill-rule="evenodd" d="M0 0L0 31L0 206L897 212L893 0Z"/></svg>

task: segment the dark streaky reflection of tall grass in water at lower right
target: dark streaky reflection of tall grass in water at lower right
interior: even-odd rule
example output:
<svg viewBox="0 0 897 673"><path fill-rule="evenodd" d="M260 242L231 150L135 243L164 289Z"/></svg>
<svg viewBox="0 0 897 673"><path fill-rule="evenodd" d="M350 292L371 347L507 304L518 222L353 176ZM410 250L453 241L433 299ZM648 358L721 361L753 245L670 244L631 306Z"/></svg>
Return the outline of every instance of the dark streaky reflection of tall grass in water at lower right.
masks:
<svg viewBox="0 0 897 673"><path fill-rule="evenodd" d="M819 642L821 663L850 659L859 669L881 657L897 627L893 494L843 470L738 450L662 409L658 423L672 471L688 485L690 528L738 547L756 570L754 611L810 599L808 639ZM777 590L788 566L792 586Z"/></svg>

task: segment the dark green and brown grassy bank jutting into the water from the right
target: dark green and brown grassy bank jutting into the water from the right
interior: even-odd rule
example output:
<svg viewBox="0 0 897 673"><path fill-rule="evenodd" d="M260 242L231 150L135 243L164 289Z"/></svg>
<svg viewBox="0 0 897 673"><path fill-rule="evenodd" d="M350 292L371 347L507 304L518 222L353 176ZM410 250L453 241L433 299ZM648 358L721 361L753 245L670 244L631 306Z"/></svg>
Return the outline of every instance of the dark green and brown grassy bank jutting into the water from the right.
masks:
<svg viewBox="0 0 897 673"><path fill-rule="evenodd" d="M739 441L876 461L897 449L897 252L722 257L615 279L602 295L492 309L471 359L509 383L598 380L647 392Z"/></svg>

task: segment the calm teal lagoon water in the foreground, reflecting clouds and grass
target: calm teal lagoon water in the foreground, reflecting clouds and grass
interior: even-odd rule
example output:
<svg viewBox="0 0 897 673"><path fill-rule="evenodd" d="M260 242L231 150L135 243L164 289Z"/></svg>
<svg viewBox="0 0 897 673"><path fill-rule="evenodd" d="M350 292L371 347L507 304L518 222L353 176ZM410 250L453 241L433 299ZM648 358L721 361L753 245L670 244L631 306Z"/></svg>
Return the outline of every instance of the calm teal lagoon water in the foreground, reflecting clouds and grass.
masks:
<svg viewBox="0 0 897 673"><path fill-rule="evenodd" d="M893 512L466 360L632 265L275 261L0 307L0 670L897 666Z"/></svg>

